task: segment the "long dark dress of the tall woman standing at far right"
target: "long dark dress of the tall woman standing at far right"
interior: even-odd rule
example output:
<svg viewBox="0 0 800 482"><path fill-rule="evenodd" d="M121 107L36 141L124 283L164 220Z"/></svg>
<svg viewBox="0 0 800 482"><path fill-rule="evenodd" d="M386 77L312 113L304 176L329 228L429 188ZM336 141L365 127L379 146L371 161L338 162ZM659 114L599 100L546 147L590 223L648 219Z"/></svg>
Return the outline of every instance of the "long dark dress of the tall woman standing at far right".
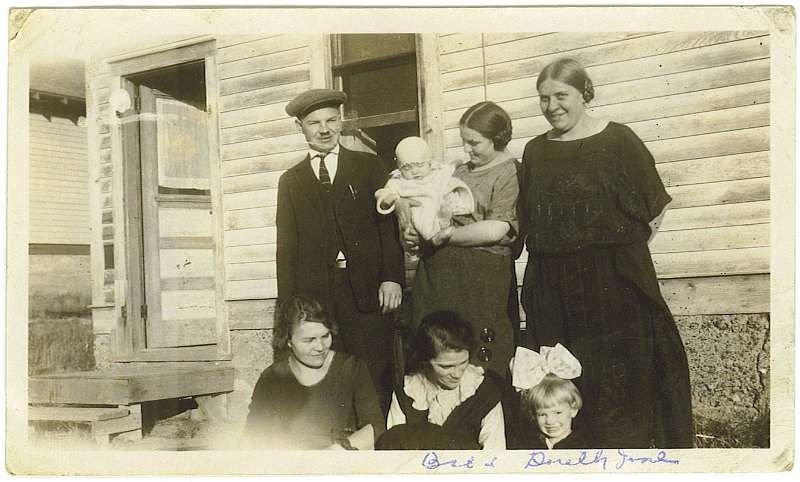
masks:
<svg viewBox="0 0 800 482"><path fill-rule="evenodd" d="M686 352L659 291L648 223L670 202L652 155L611 122L525 146L520 194L527 345L583 365L579 419L598 447L691 447Z"/></svg>

